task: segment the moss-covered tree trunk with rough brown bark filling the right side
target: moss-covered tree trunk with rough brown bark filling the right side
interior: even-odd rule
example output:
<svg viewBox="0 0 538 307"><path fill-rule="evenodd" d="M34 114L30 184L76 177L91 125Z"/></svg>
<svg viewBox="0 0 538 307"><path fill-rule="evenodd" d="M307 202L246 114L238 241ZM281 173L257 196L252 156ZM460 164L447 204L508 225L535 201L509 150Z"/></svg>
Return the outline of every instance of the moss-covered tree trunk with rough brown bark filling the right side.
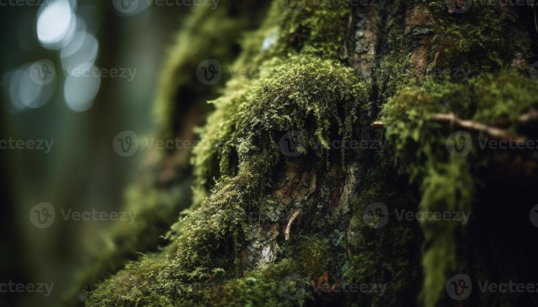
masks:
<svg viewBox="0 0 538 307"><path fill-rule="evenodd" d="M101 260L101 266L115 263L109 270L88 275L92 282L108 279L86 292L86 305L537 305L535 292L482 292L478 286L538 282L536 247L527 239L536 234L528 220L536 154L480 149L476 141L488 136L487 127L502 130L498 138L538 135L538 90L528 72L536 55L534 7L484 3L458 13L468 7L465 1L393 1L383 8L306 1L302 10L286 13L275 1L254 31L238 21L248 12L223 13L245 28L235 65L262 73L232 78L212 101L215 110L197 133L218 146L196 148L192 169L174 169L185 163L185 153L158 160L159 189L178 191L170 196L175 205L148 206L147 223L129 234L133 243L116 241L123 252ZM242 7L223 2L219 10L232 6ZM200 7L192 14L197 20L210 12ZM219 18L225 17L207 15L203 23ZM199 27L188 24L182 35L197 35ZM210 37L196 39L209 44ZM218 55L230 59L223 49ZM178 86L178 76L194 75L197 63L217 58L195 54L187 70L173 65L165 76L180 95L200 84ZM171 62L180 58L172 54ZM457 77L455 68L469 75ZM433 73L438 69L451 74ZM188 108L171 95L161 97L160 109L199 108L207 98L200 95L190 94ZM165 113L160 131L189 133L191 125L182 124L191 113ZM447 138L458 130L473 138L468 155L447 150ZM281 150L289 131L303 137L299 156ZM386 147L330 146L344 139ZM193 176L171 180L182 172ZM190 201L180 187L192 178ZM154 203L162 199L157 194ZM387 208L383 227L368 218L381 208L376 203ZM157 245L155 232L172 221L159 219L158 230L148 232L154 216L162 210L177 216L188 205L193 210L181 212L166 247L107 275L125 255ZM401 210L471 215L465 224L419 223L398 220ZM141 243L142 233L155 241ZM461 301L445 290L455 274L470 276L473 285ZM338 284L351 283L375 285L339 291ZM299 292L288 290L298 284L304 285ZM324 284L329 287L317 288Z"/></svg>

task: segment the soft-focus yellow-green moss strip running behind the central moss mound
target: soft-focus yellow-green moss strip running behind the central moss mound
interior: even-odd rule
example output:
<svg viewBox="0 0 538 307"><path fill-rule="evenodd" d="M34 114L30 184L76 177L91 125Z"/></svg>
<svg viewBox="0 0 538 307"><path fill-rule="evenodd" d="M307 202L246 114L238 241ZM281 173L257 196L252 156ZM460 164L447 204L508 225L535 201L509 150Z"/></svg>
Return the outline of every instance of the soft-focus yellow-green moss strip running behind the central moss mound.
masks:
<svg viewBox="0 0 538 307"><path fill-rule="evenodd" d="M256 73L234 78L226 84L224 94L226 98L214 102L220 104L220 111L208 118L208 123L216 124L207 125L203 130L198 131L206 140L204 145L211 144L211 148L205 146L196 152L195 176L199 184L195 189L195 199L207 196L208 189L213 188L213 178L219 177L220 172L228 175L233 172L226 165L229 163L228 158L221 161L220 158L214 157L223 153L230 154L218 145L229 140L226 137L230 135L232 129L236 128L233 124L237 121L237 112L246 106L244 102L237 100L252 96L256 91L262 90L270 77L280 74L286 69L288 63L307 63L309 59L316 58L338 59L338 51L345 37L345 33L342 33L340 29L345 25L349 13L349 9L343 6L315 5L315 2L307 1L305 8L301 11L288 14L283 13L278 1L273 2L261 28L246 35L243 41L243 52L233 65L247 71L254 69ZM264 46L266 49L263 48ZM342 78L342 76L338 77ZM269 89L267 93L270 92ZM231 120L232 118L234 120ZM291 120L293 119L289 117L288 121ZM220 165L215 164L217 161L220 161Z"/></svg>

